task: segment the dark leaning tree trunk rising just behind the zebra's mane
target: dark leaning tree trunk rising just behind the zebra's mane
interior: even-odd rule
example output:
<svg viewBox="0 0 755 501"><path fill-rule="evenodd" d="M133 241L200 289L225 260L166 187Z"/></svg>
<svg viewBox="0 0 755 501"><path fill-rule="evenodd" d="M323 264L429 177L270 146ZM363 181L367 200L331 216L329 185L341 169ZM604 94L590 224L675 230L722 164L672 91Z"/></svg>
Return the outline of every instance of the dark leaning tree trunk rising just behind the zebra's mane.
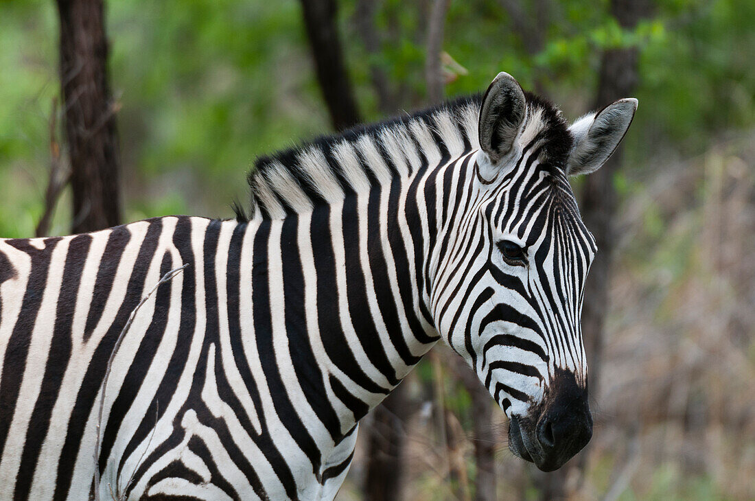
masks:
<svg viewBox="0 0 755 501"><path fill-rule="evenodd" d="M336 2L301 0L301 5L322 96L333 127L344 131L358 124L360 119L338 38Z"/></svg>

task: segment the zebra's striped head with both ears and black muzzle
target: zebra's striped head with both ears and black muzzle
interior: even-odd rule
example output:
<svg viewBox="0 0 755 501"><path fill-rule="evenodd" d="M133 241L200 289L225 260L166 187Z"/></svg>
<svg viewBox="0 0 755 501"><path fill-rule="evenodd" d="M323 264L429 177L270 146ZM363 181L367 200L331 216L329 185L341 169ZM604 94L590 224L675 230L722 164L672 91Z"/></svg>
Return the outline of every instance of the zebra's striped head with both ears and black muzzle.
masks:
<svg viewBox="0 0 755 501"><path fill-rule="evenodd" d="M544 471L592 436L580 316L596 244L568 177L606 162L636 105L619 100L568 127L499 74L435 253L445 263L432 280L436 326L509 416L510 450Z"/></svg>

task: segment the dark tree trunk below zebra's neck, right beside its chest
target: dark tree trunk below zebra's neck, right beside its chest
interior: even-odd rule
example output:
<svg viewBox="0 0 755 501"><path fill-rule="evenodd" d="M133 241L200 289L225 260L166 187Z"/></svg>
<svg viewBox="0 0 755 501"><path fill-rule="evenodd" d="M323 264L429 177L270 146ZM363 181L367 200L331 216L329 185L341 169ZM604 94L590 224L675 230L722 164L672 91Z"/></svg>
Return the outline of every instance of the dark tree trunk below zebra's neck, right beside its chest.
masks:
<svg viewBox="0 0 755 501"><path fill-rule="evenodd" d="M375 407L368 429L369 452L365 478L365 501L402 499L404 422L408 417L406 386L400 384Z"/></svg>

